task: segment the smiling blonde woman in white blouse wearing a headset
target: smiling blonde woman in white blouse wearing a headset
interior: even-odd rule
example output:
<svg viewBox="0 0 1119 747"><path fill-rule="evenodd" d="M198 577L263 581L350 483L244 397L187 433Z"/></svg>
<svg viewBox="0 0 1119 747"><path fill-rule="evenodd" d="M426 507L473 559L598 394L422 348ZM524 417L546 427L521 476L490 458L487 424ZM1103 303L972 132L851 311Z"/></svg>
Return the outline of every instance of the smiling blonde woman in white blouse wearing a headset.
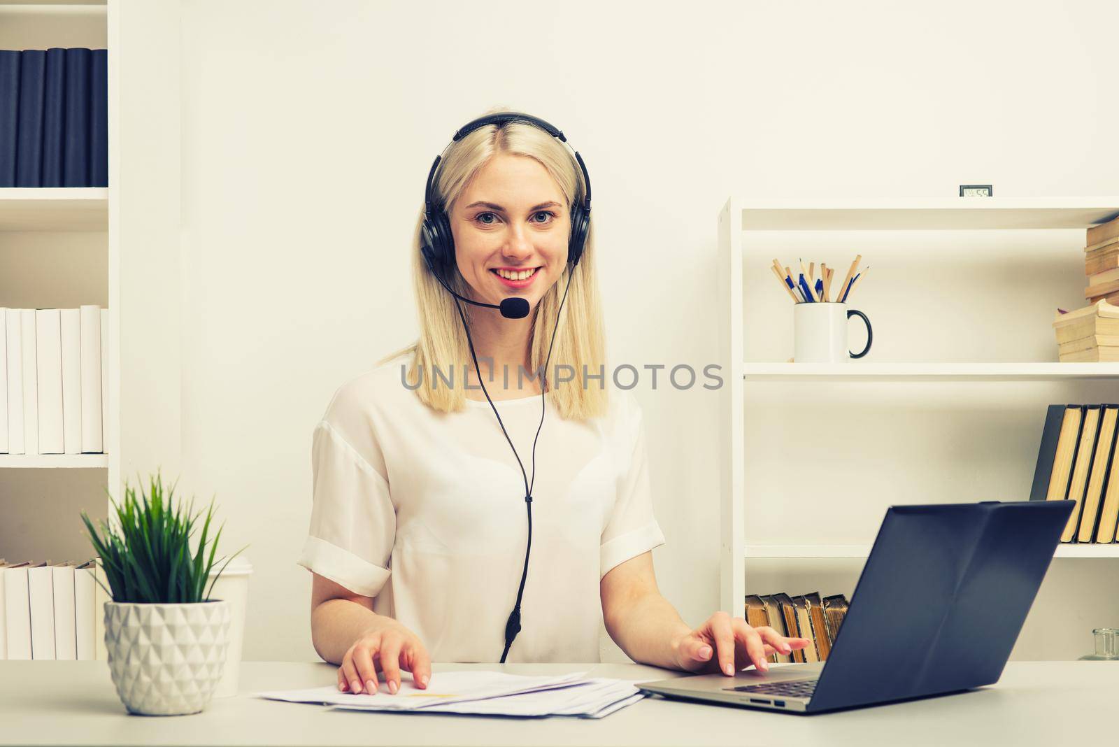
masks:
<svg viewBox="0 0 1119 747"><path fill-rule="evenodd" d="M299 564L340 690L424 688L432 659L599 661L600 614L634 661L685 671L808 644L723 612L692 628L657 589L641 412L604 388L590 180L563 140L511 112L455 134L415 234L420 340L314 429Z"/></svg>

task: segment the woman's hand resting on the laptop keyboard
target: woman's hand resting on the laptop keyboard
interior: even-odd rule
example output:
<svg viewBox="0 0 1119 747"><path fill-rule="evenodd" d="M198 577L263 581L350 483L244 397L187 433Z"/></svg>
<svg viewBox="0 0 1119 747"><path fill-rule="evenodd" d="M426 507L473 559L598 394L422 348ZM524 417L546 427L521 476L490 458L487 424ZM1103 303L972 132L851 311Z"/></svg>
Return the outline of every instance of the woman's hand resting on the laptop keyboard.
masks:
<svg viewBox="0 0 1119 747"><path fill-rule="evenodd" d="M673 641L676 668L686 672L723 672L733 677L753 664L764 672L768 658L803 649L808 639L781 635L772 627L751 627L742 617L716 612L706 623Z"/></svg>

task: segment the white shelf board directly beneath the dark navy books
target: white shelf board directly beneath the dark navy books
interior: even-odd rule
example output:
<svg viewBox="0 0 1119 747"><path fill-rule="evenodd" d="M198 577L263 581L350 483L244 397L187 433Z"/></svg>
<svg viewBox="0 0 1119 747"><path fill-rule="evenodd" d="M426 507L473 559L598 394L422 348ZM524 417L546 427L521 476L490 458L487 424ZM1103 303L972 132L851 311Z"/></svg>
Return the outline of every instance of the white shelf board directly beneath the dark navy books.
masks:
<svg viewBox="0 0 1119 747"><path fill-rule="evenodd" d="M13 230L109 230L109 188L0 189L0 231Z"/></svg>

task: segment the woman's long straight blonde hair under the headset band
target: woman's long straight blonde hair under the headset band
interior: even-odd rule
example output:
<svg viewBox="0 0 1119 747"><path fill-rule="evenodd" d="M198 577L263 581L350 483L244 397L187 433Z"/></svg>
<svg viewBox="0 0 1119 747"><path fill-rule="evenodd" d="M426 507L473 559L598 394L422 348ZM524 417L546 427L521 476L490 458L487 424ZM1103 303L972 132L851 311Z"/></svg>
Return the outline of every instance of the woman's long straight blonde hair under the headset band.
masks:
<svg viewBox="0 0 1119 747"><path fill-rule="evenodd" d="M504 107L492 108L488 114L508 111ZM567 202L567 214L572 205L583 200L585 185L582 171L574 157L555 138L544 130L524 122L506 122L488 124L478 127L448 148L439 164L439 174L432 186L436 204L442 204L448 215L470 180L478 171L498 154L525 155L538 161L560 186ZM462 321L455 309L455 300L439 284L431 274L420 252L421 226L424 209L420 208L415 231L412 239L412 276L416 293L420 316L420 339L406 348L391 353L380 362L398 356L411 353L407 370L410 387L415 388L420 400L429 407L443 412L455 413L466 407L466 389L463 386L438 386L434 368L441 371L460 372L464 366L472 368L473 359L467 342ZM545 292L533 311L533 322L529 328L529 366L535 374L544 368L548 354L548 343L557 323L556 312L563 289L567 286L572 266L568 263L556 283ZM466 278L455 266L444 277L455 293L468 295ZM605 372L605 339L602 329L602 311L599 301L599 282L594 267L594 220L587 227L583 255L574 268L574 277L567 291L563 305L563 318L558 320L560 330L555 335L552 358L548 361L548 391L545 395L549 404L565 419L585 419L600 416L606 410L605 381L609 376L587 380L583 386L584 375L598 377ZM557 384L557 366L571 366L574 378ZM421 371L425 375L421 375ZM417 385L417 377L420 377Z"/></svg>

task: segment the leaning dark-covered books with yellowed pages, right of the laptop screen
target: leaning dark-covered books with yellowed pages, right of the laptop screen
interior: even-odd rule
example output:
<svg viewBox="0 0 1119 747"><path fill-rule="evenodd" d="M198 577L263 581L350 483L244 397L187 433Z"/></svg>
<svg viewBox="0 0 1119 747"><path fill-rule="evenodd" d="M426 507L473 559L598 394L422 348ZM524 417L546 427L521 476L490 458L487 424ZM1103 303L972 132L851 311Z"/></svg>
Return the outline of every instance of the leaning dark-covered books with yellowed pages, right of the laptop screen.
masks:
<svg viewBox="0 0 1119 747"><path fill-rule="evenodd" d="M1050 405L1032 501L1076 502L1062 542L1113 542L1119 522L1119 405Z"/></svg>

